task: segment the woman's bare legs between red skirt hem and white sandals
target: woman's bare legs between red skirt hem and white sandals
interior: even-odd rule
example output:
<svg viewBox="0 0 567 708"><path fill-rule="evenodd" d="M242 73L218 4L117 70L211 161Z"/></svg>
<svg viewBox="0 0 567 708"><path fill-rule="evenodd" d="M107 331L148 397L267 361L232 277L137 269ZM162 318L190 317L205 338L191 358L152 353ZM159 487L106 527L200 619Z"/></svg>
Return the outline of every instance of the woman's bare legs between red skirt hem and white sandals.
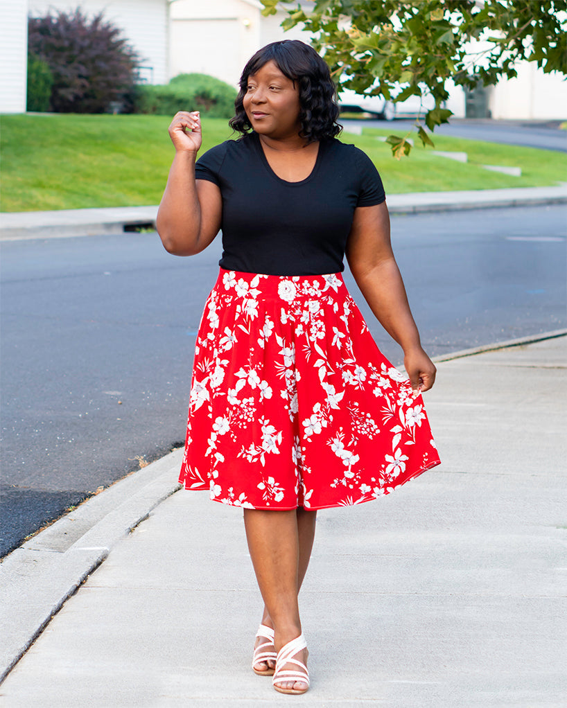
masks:
<svg viewBox="0 0 567 708"><path fill-rule="evenodd" d="M316 513L304 509L245 509L244 514L250 556L264 598L262 624L274 627L274 643L279 651L283 644L301 634L298 592L313 547ZM307 651L299 653L297 658L305 663ZM305 687L293 681L281 685Z"/></svg>

